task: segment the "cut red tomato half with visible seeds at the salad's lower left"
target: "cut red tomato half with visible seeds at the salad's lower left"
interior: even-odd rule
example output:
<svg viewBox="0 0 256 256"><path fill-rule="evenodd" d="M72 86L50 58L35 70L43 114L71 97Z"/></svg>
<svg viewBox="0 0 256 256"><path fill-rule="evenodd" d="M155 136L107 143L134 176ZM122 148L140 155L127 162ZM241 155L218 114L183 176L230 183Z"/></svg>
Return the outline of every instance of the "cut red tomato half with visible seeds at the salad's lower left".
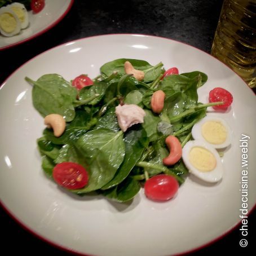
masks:
<svg viewBox="0 0 256 256"><path fill-rule="evenodd" d="M56 183L68 189L83 188L88 183L87 171L74 162L55 165L52 176Z"/></svg>

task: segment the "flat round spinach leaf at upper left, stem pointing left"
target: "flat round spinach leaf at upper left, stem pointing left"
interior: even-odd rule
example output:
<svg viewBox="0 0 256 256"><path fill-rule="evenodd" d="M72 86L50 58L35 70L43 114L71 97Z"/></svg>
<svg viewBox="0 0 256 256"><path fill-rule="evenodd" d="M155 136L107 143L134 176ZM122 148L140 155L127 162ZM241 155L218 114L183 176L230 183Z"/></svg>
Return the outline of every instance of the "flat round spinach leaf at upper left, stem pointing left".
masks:
<svg viewBox="0 0 256 256"><path fill-rule="evenodd" d="M73 101L76 100L77 90L64 80L59 74L45 74L37 81L26 77L32 83L33 105L43 116L60 114L67 122L74 119L75 111Z"/></svg>

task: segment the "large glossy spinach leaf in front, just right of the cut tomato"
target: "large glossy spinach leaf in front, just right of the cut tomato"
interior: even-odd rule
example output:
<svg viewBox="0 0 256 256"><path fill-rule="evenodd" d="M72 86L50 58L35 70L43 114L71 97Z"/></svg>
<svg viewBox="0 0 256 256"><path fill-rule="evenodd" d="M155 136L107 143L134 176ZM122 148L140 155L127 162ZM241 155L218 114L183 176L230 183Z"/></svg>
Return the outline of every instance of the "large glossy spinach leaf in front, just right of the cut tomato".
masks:
<svg viewBox="0 0 256 256"><path fill-rule="evenodd" d="M107 184L122 164L125 157L123 133L107 129L87 132L77 140L75 146L90 166L89 183L77 193L94 191Z"/></svg>

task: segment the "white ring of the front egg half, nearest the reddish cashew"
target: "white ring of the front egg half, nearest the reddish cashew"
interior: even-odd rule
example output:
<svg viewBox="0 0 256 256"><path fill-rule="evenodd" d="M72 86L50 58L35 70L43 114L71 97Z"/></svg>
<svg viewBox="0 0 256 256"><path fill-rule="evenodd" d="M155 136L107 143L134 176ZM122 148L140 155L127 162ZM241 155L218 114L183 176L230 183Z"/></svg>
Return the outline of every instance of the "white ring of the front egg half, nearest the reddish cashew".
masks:
<svg viewBox="0 0 256 256"><path fill-rule="evenodd" d="M202 147L213 153L216 159L216 166L212 171L202 172L196 169L196 167L191 164L191 162L189 161L189 152L193 147ZM184 145L182 149L182 159L184 164L187 166L189 173L192 173L198 178L204 180L205 182L214 183L222 179L223 165L221 159L219 157L217 150L213 148L210 144L206 144L201 140L190 140L189 142L186 143L186 145Z"/></svg>

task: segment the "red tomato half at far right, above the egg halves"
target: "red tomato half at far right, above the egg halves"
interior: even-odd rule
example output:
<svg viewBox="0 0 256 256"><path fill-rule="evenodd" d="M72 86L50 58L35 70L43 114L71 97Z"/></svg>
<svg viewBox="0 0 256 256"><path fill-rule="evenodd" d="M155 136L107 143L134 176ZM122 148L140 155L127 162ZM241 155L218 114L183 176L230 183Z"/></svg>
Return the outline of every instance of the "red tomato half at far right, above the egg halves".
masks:
<svg viewBox="0 0 256 256"><path fill-rule="evenodd" d="M231 105L233 101L233 96L229 91L220 87L216 87L209 92L209 101L210 103L223 101L224 102L223 105L216 105L216 106L213 106L213 108L217 110L218 109L226 110L229 107L229 105Z"/></svg>

